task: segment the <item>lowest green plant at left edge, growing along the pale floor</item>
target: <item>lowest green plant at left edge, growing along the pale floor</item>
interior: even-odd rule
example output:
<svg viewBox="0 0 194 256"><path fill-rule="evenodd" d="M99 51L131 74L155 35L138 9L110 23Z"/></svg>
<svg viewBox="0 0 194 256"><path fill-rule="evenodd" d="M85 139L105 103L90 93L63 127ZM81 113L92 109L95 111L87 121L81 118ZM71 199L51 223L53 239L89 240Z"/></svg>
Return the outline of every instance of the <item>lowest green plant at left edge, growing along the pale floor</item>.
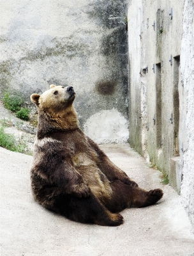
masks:
<svg viewBox="0 0 194 256"><path fill-rule="evenodd" d="M6 134L4 127L0 127L0 146L20 153L24 153L26 148L25 143L18 143L13 135Z"/></svg>

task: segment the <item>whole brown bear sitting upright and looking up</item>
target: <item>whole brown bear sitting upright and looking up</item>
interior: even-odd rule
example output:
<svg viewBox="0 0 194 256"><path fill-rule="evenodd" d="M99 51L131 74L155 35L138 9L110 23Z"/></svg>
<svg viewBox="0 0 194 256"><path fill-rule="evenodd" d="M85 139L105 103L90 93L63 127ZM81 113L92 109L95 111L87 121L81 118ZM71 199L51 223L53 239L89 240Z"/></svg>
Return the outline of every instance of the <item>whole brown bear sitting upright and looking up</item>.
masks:
<svg viewBox="0 0 194 256"><path fill-rule="evenodd" d="M78 126L71 86L50 85L31 101L39 113L31 182L35 200L73 221L117 226L118 212L153 205L161 189L138 188Z"/></svg>

